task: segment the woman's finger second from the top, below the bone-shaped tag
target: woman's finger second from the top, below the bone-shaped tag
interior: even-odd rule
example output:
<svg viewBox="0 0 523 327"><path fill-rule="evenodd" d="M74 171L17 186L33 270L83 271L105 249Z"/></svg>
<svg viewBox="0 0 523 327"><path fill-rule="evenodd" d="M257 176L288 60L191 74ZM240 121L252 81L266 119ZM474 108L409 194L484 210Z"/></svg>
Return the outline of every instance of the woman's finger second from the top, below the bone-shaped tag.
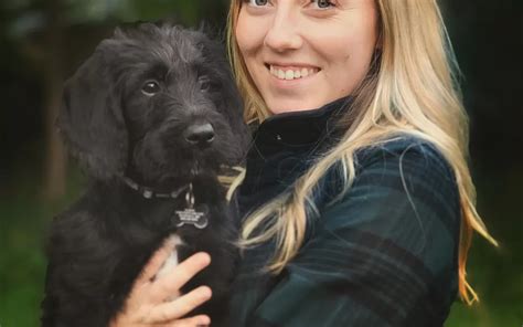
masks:
<svg viewBox="0 0 523 327"><path fill-rule="evenodd" d="M175 266L171 273L152 284L152 300L163 302L173 295L178 295L180 288L210 263L211 256L205 252L199 252L188 257Z"/></svg>

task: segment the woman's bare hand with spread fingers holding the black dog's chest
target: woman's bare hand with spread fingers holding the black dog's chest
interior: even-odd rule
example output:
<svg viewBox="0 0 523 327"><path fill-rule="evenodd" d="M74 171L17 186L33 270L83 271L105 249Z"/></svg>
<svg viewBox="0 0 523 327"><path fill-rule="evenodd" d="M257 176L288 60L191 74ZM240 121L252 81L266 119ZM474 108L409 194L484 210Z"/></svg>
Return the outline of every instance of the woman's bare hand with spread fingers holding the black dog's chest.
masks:
<svg viewBox="0 0 523 327"><path fill-rule="evenodd" d="M168 274L153 278L173 246L168 241L152 255L135 281L124 312L113 319L110 327L193 327L211 324L210 317L205 315L181 319L211 298L210 287L200 286L180 296L180 288L211 263L209 254L196 253Z"/></svg>

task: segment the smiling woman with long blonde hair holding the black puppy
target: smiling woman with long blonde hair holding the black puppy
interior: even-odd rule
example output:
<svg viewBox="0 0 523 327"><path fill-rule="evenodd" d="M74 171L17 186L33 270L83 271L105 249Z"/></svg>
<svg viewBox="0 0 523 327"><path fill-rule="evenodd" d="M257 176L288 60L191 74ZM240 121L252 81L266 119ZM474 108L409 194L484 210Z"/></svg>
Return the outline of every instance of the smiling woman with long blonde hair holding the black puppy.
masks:
<svg viewBox="0 0 523 327"><path fill-rule="evenodd" d="M466 281L468 125L436 0L232 0L230 54L255 141L238 189L234 326L441 326ZM113 326L195 326L195 254ZM148 325L151 324L151 325ZM159 326L159 325L154 325Z"/></svg>

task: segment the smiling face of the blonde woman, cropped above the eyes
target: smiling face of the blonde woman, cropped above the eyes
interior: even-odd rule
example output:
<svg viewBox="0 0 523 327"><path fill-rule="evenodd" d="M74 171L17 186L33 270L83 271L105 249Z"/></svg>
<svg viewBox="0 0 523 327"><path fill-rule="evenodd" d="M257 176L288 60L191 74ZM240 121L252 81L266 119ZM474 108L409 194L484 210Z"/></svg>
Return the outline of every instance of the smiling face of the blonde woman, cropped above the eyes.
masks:
<svg viewBox="0 0 523 327"><path fill-rule="evenodd" d="M242 0L239 51L274 113L346 96L369 71L377 39L374 0Z"/></svg>

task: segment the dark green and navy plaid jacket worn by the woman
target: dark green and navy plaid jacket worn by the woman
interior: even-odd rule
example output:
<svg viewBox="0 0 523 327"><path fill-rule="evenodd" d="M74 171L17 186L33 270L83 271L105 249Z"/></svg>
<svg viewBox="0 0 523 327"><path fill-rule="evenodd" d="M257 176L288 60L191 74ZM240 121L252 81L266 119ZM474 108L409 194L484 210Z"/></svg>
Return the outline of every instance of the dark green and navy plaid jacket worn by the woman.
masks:
<svg viewBox="0 0 523 327"><path fill-rule="evenodd" d="M257 126L238 191L245 217L276 197L337 143L339 99ZM350 101L350 99L349 99ZM244 253L233 285L233 327L442 326L457 295L460 205L452 171L430 144L397 137L356 155L349 192L332 168L314 193L319 217L277 276L262 267L271 243Z"/></svg>

